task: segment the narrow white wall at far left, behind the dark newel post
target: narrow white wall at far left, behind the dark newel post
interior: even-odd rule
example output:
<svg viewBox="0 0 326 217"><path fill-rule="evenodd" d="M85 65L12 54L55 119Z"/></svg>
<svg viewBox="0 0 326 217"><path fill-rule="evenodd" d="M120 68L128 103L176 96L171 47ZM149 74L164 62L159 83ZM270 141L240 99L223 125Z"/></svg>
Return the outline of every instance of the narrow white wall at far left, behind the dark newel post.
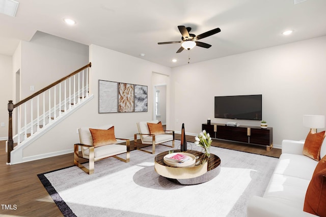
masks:
<svg viewBox="0 0 326 217"><path fill-rule="evenodd" d="M0 122L5 123L5 127L0 126L0 138L8 138L8 101L12 100L12 58L11 56L0 54Z"/></svg>

